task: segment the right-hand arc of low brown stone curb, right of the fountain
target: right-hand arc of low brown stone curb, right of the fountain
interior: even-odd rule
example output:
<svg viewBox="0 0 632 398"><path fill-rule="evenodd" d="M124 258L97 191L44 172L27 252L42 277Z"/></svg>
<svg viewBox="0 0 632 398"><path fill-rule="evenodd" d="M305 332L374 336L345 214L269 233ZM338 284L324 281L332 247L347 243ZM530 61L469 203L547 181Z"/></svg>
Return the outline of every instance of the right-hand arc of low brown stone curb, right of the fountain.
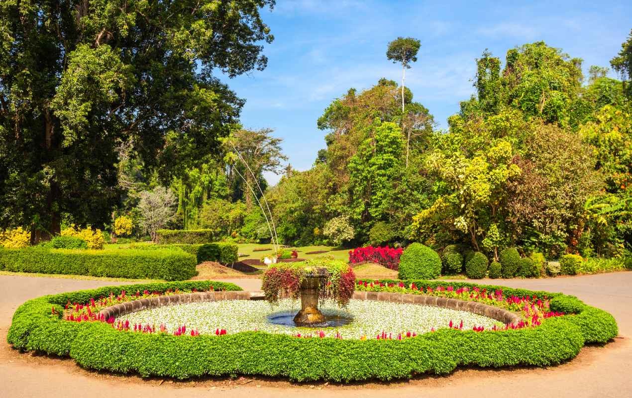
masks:
<svg viewBox="0 0 632 398"><path fill-rule="evenodd" d="M353 298L357 300L391 301L392 303L429 305L440 308L449 308L450 310L468 311L478 315L483 315L484 317L498 320L506 325L509 323L516 324L522 320L519 315L495 306L477 303L476 301L465 301L453 298L427 296L425 294L353 292Z"/></svg>

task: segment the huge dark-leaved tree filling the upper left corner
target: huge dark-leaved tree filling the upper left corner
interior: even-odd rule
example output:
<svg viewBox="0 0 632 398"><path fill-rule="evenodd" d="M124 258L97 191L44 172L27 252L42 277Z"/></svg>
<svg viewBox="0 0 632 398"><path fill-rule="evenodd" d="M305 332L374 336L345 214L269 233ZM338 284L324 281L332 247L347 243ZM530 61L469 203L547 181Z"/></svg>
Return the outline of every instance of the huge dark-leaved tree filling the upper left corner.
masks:
<svg viewBox="0 0 632 398"><path fill-rule="evenodd" d="M163 181L216 150L243 100L213 73L265 68L259 43L273 37L259 11L273 4L1 2L0 223L37 241L62 214L107 222L119 143Z"/></svg>

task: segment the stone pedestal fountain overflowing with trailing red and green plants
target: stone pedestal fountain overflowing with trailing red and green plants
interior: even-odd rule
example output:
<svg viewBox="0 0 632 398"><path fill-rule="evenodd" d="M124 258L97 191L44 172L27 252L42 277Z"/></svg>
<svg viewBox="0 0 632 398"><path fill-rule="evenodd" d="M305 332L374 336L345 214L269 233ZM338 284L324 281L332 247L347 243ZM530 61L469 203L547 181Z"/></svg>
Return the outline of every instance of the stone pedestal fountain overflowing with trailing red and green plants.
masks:
<svg viewBox="0 0 632 398"><path fill-rule="evenodd" d="M275 305L279 298L301 298L301 310L294 317L297 326L327 326L318 309L319 300L332 299L346 306L355 289L355 274L347 263L316 258L298 263L277 263L264 273L265 299Z"/></svg>

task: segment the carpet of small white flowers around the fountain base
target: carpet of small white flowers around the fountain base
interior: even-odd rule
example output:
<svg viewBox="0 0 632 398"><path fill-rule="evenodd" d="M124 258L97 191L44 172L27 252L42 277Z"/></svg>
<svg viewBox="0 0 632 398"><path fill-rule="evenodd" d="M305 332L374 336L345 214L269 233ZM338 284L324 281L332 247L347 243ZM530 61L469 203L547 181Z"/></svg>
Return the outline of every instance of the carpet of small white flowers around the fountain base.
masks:
<svg viewBox="0 0 632 398"><path fill-rule="evenodd" d="M230 334L246 330L262 330L270 333L295 335L315 334L320 329L273 325L268 315L283 311L298 311L300 301L289 299L279 301L278 306L270 306L266 301L226 300L208 303L191 303L163 306L150 310L137 311L124 315L119 320L129 320L131 324L155 325L163 323L169 333L181 325L188 330L197 329L200 334L214 334L216 329L226 329ZM415 332L422 334L433 328L448 327L452 320L454 326L463 321L463 330L483 326L490 329L502 323L466 311L450 310L432 306L389 303L386 301L351 300L347 308L337 308L333 303L325 303L320 310L325 316L343 315L353 317L348 325L322 329L327 337L339 333L343 339L360 339L363 336L374 339L386 332L396 338L399 333Z"/></svg>

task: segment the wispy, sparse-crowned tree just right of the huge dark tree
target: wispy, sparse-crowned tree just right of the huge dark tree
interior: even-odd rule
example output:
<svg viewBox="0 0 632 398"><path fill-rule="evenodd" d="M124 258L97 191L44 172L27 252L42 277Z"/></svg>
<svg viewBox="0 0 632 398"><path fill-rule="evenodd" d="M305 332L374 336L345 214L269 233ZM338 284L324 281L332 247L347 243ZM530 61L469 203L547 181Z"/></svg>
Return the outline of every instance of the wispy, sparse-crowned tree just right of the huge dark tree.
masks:
<svg viewBox="0 0 632 398"><path fill-rule="evenodd" d="M240 174L246 180L246 186L243 187L246 196L246 208L248 211L252 209L253 195L250 189L257 194L257 179L263 172L270 171L279 174L283 170L281 167L282 160L288 160L288 157L281 150L281 142L283 139L272 136L274 130L263 128L261 130L237 130L226 140L226 150L228 152L236 152L234 162L239 165L243 162L246 166ZM239 159L241 157L241 159ZM236 169L233 169L237 171Z"/></svg>

